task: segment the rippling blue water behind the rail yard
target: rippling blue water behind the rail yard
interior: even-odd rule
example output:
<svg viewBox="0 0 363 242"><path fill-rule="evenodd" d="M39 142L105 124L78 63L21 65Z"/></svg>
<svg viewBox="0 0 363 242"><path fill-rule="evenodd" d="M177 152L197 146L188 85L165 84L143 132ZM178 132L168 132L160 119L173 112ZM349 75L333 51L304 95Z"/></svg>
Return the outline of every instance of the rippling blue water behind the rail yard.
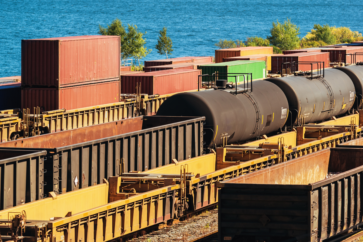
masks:
<svg viewBox="0 0 363 242"><path fill-rule="evenodd" d="M22 39L93 35L117 17L147 32L152 52L144 60L165 58L155 50L163 26L173 40L171 57L214 56L220 38L266 37L272 21L286 17L301 37L314 23L363 32L362 0L1 0L0 77L21 74Z"/></svg>

